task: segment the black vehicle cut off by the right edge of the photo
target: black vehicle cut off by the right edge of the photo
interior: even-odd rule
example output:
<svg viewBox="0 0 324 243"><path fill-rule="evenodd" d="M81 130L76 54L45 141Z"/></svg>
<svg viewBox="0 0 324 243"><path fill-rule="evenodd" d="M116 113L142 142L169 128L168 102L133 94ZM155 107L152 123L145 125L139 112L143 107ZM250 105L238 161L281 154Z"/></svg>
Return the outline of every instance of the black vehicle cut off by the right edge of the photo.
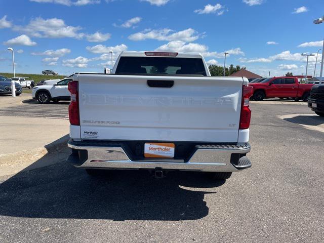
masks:
<svg viewBox="0 0 324 243"><path fill-rule="evenodd" d="M319 116L324 116L324 84L314 85L308 97L308 107Z"/></svg>

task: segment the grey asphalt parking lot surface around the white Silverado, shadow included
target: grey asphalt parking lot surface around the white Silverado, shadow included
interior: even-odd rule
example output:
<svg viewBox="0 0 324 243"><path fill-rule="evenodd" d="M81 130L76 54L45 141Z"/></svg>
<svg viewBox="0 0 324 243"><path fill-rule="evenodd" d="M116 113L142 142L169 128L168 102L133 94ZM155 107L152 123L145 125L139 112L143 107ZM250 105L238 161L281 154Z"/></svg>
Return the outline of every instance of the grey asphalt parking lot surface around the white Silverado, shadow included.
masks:
<svg viewBox="0 0 324 243"><path fill-rule="evenodd" d="M282 116L324 119L300 103L251 104L252 168L226 182L66 163L0 177L0 242L324 242L324 133ZM0 115L67 116L67 103L24 107Z"/></svg>

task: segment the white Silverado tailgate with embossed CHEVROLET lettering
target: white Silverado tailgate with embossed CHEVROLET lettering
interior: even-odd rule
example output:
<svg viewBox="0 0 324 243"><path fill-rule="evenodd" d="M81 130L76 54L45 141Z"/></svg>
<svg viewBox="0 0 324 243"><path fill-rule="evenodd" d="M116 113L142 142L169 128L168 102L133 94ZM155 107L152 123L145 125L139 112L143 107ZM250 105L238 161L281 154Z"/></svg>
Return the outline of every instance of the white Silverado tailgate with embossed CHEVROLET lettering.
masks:
<svg viewBox="0 0 324 243"><path fill-rule="evenodd" d="M79 74L80 137L237 142L242 85L241 77Z"/></svg>

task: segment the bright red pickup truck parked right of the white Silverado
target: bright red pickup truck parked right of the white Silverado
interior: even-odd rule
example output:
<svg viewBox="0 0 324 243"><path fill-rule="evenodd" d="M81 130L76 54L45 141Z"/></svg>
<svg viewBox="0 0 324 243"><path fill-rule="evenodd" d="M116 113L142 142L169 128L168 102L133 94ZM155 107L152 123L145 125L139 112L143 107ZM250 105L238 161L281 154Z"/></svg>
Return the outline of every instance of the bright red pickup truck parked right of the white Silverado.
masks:
<svg viewBox="0 0 324 243"><path fill-rule="evenodd" d="M313 84L299 84L297 77L269 77L260 83L252 83L253 100L264 98L292 98L296 101L303 99L307 102Z"/></svg>

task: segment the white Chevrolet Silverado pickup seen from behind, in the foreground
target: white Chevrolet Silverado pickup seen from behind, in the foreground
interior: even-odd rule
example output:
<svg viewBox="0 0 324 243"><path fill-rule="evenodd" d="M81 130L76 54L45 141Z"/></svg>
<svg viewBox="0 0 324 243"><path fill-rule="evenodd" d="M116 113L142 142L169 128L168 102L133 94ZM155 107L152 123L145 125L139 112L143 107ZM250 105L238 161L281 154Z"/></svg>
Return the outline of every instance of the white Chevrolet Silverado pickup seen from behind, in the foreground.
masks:
<svg viewBox="0 0 324 243"><path fill-rule="evenodd" d="M227 179L251 167L245 77L212 77L200 54L123 52L111 74L68 84L67 161L102 169L208 172Z"/></svg>

